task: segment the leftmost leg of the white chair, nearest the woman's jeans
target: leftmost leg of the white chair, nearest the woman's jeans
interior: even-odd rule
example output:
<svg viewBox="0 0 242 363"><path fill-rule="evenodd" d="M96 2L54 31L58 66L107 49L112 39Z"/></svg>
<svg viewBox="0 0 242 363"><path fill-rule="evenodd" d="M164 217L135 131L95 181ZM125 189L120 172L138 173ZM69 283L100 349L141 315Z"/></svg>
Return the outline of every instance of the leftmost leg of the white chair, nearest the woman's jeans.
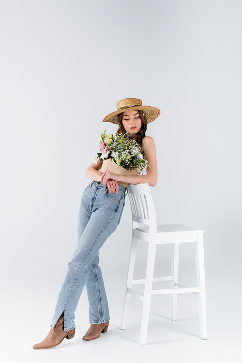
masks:
<svg viewBox="0 0 242 363"><path fill-rule="evenodd" d="M129 301L130 301L130 293L127 292L127 288L132 287L132 280L133 280L133 275L134 275L135 259L136 259L136 250L137 250L137 239L135 237L133 237L132 243L131 243L130 258L129 258L129 269L128 269L127 285L126 285L126 290L125 290L126 292L125 292L125 298L124 298L124 304L123 304L121 330L125 330L126 324L127 324Z"/></svg>

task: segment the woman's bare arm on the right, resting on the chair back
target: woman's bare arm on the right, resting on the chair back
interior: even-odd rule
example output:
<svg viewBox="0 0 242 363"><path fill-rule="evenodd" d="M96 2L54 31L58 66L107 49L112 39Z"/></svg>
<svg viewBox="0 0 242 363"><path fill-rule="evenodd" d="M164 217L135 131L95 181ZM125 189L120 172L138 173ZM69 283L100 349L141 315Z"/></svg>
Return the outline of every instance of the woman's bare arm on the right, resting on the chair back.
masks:
<svg viewBox="0 0 242 363"><path fill-rule="evenodd" d="M101 182L106 185L108 179L113 179L130 184L148 183L151 187L154 187L157 182L157 161L154 140L150 136L145 137L142 142L142 148L149 163L146 175L117 175L106 171L101 176Z"/></svg>

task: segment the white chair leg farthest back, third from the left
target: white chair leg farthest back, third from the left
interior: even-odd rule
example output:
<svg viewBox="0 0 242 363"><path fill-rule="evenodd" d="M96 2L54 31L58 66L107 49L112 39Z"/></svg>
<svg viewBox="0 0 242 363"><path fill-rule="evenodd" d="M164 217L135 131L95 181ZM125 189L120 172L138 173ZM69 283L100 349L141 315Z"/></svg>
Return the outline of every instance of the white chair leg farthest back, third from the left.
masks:
<svg viewBox="0 0 242 363"><path fill-rule="evenodd" d="M173 280L171 281L171 288L176 288L175 283L178 282L178 270L179 270L179 243L174 243L173 253L171 256L171 275ZM177 294L170 294L170 320L176 321L177 319Z"/></svg>

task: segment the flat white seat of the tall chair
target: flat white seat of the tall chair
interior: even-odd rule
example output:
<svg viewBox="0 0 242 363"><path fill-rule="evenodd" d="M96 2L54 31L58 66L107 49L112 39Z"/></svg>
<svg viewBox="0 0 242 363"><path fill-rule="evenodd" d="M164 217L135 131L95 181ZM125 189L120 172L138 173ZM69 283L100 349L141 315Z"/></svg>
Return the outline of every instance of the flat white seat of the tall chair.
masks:
<svg viewBox="0 0 242 363"><path fill-rule="evenodd" d="M140 226L137 230L149 233L149 226ZM159 224L157 225L157 235L187 235L194 233L204 233L204 230L200 230L194 227L185 226L183 224Z"/></svg>

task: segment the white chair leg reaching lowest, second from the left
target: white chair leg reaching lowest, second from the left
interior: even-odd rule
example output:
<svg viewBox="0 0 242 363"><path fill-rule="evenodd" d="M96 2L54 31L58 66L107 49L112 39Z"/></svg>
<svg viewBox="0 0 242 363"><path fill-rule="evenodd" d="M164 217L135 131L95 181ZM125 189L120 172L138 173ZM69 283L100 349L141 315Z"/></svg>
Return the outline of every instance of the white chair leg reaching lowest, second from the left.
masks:
<svg viewBox="0 0 242 363"><path fill-rule="evenodd" d="M140 338L139 338L139 344L141 346L146 345L146 340L147 340L147 331L148 331L150 306L151 306L151 290L152 290L153 275L154 275L155 252L156 252L156 244L155 241L151 240L151 242L149 243L149 251L147 257L145 291L144 291L141 329L140 329Z"/></svg>

